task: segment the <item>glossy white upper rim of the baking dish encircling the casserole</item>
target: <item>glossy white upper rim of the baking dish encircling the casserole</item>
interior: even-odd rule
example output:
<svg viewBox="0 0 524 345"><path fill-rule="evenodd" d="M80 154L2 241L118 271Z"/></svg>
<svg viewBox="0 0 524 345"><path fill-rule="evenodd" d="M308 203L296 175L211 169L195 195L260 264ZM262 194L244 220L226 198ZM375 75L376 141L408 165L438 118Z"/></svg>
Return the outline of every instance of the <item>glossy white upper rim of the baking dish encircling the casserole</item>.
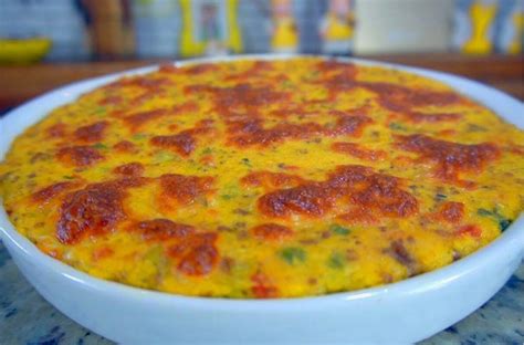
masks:
<svg viewBox="0 0 524 345"><path fill-rule="evenodd" d="M335 60L344 63L356 63L360 65L368 66L381 66L387 69L394 69L401 72L415 73L422 77L428 77L431 80L437 80L441 83L447 84L452 87L453 91L459 92L482 106L485 106L493 111L499 117L502 117L505 122L512 123L518 128L524 128L524 116L518 118L516 115L507 118L507 114L503 115L501 113L509 113L510 109L521 108L524 112L524 105L516 98L497 91L496 88L483 85L479 82L457 76L450 73L438 72L420 67L410 67L396 63L387 63L373 61L367 59L357 59L357 58L332 58L323 55L307 55L307 54L285 54L285 55L274 55L274 54L248 54L248 55L234 55L234 56L218 56L218 58L201 58L201 59L190 59L185 61L170 61L176 66L185 66L191 64L200 63L220 63L220 62L231 62L239 60L289 60L296 58L319 58L325 60ZM9 122L13 122L12 118L15 118L20 113L24 113L27 108L34 107L41 103L53 103L54 105L51 109L57 108L63 104L73 102L82 94L90 92L101 85L111 83L124 75L137 75L145 74L151 71L155 71L159 64L149 65L138 69L126 70L117 73L112 73L103 76L92 77L87 80L82 80L78 82L70 83L67 85L54 88L50 92L46 92L38 97L34 97L20 106L9 111L2 118L0 118L0 133L3 133L7 128ZM476 92L474 92L476 90ZM490 93L494 101L490 100L479 100L474 94L479 92ZM61 102L61 97L71 97L66 98L65 102ZM59 102L57 102L59 101ZM62 100L63 101L63 100ZM20 135L21 132L25 130L29 126L38 123L42 118L49 115L48 109L41 111L39 116L27 115L31 118L29 125L18 125L18 134L14 135L6 144L0 143L0 157L3 159L4 154L11 148L12 140ZM33 113L34 114L34 113ZM15 126L17 124L14 124ZM2 198L0 197L0 201ZM23 253L25 258L35 262L39 265L42 265L43 269L54 271L64 279L73 280L76 283L84 285L91 290L97 290L109 295L118 295L124 299L144 299L146 297L148 303L156 304L166 304L166 303L176 303L177 305L186 304L192 307L202 307L209 309L214 307L217 310L229 309L234 305L239 311L250 311L261 309L269 310L279 310L287 309L289 306L298 306L298 307L312 307L318 303L337 303L339 301L352 301L352 300L363 300L370 297L380 297L386 294L411 294L418 293L426 290L438 289L442 284L452 282L453 280L459 279L460 276L468 274L476 269L482 268L484 264L488 264L492 257L500 254L501 251L504 251L506 248L512 245L521 247L520 258L524 257L524 212L521 212L520 216L513 221L513 223L501 233L495 240L488 243L483 248L478 249L473 253L455 261L449 263L442 268L407 278L394 283L377 285L355 291L346 292L336 292L328 293L323 295L307 295L298 297L281 297L281 299L229 299L229 297L203 297L203 296L190 296L181 295L168 292L161 292L156 290L146 290L143 288L137 288L133 285L127 285L124 283L113 282L90 275L83 271L80 271L57 259L54 259L45 253L43 253L36 245L34 245L29 239L18 232L14 226L10 222L3 202L0 205L0 240L3 242L10 242L19 251ZM6 243L4 243L6 245Z"/></svg>

